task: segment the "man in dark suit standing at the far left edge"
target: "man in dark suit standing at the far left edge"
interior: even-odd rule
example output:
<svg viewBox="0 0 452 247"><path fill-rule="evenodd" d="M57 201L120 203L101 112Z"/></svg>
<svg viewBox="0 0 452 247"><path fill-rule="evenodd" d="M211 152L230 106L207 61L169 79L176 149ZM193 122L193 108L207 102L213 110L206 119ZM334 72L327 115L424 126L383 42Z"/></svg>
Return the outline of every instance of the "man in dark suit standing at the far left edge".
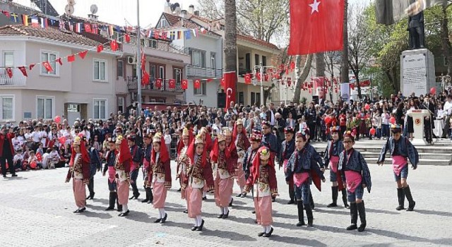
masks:
<svg viewBox="0 0 452 247"><path fill-rule="evenodd" d="M8 132L6 126L1 126L0 128L0 163L1 163L1 173L3 177L6 178L6 161L8 161L9 171L12 176L17 176L13 165L13 155L14 147L13 140L14 133L13 128L9 128Z"/></svg>

